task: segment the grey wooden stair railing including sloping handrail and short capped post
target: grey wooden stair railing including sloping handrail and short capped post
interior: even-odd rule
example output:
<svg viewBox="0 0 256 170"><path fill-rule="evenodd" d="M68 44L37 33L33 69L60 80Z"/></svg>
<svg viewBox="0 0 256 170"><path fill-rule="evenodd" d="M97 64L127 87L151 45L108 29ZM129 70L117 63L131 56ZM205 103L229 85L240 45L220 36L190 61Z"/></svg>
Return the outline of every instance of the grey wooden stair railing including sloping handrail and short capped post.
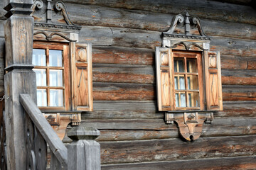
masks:
<svg viewBox="0 0 256 170"><path fill-rule="evenodd" d="M100 144L95 139L100 131L80 125L68 132L73 142L67 147L60 140L29 94L20 94L26 112L27 169L47 168L47 145L50 148L50 169L100 170Z"/></svg>

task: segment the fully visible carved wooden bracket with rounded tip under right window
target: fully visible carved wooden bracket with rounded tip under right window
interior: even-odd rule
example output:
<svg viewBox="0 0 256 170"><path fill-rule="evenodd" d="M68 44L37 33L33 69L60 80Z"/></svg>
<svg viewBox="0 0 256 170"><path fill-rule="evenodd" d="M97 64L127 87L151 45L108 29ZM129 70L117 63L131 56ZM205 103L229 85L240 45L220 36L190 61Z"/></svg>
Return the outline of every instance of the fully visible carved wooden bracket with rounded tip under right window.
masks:
<svg viewBox="0 0 256 170"><path fill-rule="evenodd" d="M213 122L212 112L183 112L183 113L166 113L165 121L168 124L178 124L179 134L188 141L193 141L201 136L203 123Z"/></svg>

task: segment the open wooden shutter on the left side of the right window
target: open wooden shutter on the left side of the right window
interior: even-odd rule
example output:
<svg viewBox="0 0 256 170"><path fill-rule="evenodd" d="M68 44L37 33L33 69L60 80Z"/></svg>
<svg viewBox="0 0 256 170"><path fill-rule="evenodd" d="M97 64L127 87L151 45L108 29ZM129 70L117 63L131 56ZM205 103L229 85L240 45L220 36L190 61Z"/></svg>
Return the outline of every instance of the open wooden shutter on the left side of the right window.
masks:
<svg viewBox="0 0 256 170"><path fill-rule="evenodd" d="M159 111L174 111L174 64L171 48L156 47L156 86Z"/></svg>

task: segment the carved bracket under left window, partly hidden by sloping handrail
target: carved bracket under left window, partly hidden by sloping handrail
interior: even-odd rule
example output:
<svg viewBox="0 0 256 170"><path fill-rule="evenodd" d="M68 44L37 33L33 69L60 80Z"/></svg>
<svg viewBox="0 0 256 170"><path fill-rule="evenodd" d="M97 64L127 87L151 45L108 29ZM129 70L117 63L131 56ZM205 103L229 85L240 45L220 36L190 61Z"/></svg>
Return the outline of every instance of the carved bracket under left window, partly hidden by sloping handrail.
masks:
<svg viewBox="0 0 256 170"><path fill-rule="evenodd" d="M43 113L43 115L60 137L60 140L63 140L65 130L70 123L72 125L80 125L81 123L81 113L62 113L61 115L60 113Z"/></svg>

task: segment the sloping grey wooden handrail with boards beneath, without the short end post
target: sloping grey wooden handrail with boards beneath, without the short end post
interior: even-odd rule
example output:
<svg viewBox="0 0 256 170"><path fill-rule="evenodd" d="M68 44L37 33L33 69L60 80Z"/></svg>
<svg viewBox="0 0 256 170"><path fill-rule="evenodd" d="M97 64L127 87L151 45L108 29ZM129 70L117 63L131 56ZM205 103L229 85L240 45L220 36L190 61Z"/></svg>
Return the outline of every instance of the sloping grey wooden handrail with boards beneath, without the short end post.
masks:
<svg viewBox="0 0 256 170"><path fill-rule="evenodd" d="M46 169L47 144L50 148L50 169L68 169L68 149L28 94L20 95L26 111L28 168Z"/></svg>

